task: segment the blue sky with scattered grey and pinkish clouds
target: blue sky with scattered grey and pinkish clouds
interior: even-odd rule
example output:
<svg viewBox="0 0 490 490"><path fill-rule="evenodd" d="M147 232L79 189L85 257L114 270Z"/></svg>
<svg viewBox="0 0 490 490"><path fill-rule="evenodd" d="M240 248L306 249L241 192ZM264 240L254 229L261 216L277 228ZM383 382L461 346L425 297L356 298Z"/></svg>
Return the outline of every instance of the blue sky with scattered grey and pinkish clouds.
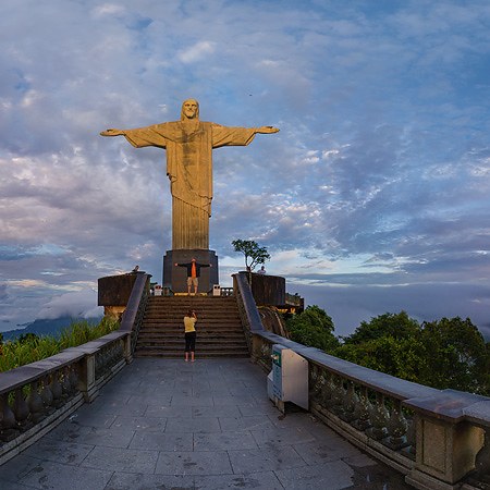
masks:
<svg viewBox="0 0 490 490"><path fill-rule="evenodd" d="M488 0L0 3L0 330L97 310L171 247L164 151L102 138L180 117L274 125L215 151L210 246L267 246L338 334L406 310L490 331Z"/></svg>

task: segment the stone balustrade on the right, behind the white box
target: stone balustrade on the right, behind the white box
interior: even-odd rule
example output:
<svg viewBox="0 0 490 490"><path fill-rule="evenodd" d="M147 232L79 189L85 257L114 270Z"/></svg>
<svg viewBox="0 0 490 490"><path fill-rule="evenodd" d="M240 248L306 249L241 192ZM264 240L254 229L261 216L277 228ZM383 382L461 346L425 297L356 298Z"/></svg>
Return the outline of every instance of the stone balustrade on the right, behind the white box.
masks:
<svg viewBox="0 0 490 490"><path fill-rule="evenodd" d="M481 485L490 483L490 399L404 381L267 332L237 275L252 358L269 372L272 345L280 344L307 359L313 414L415 488L488 488Z"/></svg>

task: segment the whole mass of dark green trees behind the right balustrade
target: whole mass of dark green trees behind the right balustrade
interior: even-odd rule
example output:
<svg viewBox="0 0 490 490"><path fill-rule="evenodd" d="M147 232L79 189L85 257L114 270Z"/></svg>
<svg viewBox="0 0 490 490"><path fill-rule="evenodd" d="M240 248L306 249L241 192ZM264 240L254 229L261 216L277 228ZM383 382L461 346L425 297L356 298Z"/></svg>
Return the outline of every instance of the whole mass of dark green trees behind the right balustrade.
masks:
<svg viewBox="0 0 490 490"><path fill-rule="evenodd" d="M346 338L318 306L286 320L291 339L345 360L438 389L490 396L490 342L460 317L418 323L405 311L363 321Z"/></svg>

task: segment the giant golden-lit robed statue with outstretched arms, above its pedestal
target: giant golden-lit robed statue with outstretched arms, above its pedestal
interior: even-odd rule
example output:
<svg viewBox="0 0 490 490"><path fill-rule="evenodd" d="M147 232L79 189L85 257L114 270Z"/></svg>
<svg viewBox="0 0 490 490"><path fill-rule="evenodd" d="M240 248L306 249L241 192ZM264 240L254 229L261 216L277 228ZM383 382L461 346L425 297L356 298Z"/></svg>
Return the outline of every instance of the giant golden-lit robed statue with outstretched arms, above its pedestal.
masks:
<svg viewBox="0 0 490 490"><path fill-rule="evenodd" d="M212 199L212 149L248 145L272 126L228 127L199 121L195 99L182 105L181 120L135 130L107 130L102 136L124 136L134 147L167 150L167 175L172 193L172 249L208 249Z"/></svg>

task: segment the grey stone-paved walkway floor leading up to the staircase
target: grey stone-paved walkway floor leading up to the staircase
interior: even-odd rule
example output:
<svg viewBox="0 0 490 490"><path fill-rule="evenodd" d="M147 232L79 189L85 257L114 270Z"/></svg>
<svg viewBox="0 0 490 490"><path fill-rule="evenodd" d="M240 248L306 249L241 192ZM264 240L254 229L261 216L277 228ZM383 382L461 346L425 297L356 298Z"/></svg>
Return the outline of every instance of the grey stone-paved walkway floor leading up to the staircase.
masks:
<svg viewBox="0 0 490 490"><path fill-rule="evenodd" d="M310 414L282 416L249 359L136 358L90 405L0 466L0 488L409 487Z"/></svg>

